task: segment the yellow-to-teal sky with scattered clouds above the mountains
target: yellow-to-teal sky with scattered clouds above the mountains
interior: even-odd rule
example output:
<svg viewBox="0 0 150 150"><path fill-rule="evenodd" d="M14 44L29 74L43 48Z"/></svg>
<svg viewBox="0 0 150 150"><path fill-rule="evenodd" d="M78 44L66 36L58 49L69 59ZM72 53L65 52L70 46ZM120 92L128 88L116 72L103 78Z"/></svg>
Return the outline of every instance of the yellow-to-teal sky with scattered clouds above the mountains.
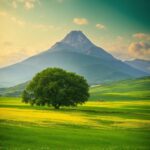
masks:
<svg viewBox="0 0 150 150"><path fill-rule="evenodd" d="M81 30L118 59L150 60L150 0L0 0L0 67Z"/></svg>

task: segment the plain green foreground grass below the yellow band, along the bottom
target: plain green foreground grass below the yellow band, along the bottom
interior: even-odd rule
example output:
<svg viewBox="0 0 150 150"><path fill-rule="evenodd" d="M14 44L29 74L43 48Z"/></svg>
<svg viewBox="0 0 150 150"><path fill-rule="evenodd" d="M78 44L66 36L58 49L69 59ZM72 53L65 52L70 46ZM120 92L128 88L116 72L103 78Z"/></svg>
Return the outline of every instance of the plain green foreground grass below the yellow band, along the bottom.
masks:
<svg viewBox="0 0 150 150"><path fill-rule="evenodd" d="M1 149L149 149L144 130L1 124Z"/></svg>

